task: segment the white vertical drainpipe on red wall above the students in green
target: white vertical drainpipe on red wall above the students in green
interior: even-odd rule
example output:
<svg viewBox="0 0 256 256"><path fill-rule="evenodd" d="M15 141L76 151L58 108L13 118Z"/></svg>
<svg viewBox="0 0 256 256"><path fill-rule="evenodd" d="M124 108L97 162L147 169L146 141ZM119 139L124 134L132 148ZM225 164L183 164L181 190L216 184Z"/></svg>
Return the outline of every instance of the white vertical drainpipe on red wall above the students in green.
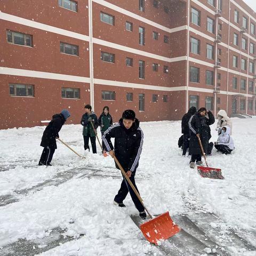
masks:
<svg viewBox="0 0 256 256"><path fill-rule="evenodd" d="M93 84L93 30L92 30L92 0L88 0L89 5L89 54L90 54L90 102L94 110L94 84Z"/></svg>

